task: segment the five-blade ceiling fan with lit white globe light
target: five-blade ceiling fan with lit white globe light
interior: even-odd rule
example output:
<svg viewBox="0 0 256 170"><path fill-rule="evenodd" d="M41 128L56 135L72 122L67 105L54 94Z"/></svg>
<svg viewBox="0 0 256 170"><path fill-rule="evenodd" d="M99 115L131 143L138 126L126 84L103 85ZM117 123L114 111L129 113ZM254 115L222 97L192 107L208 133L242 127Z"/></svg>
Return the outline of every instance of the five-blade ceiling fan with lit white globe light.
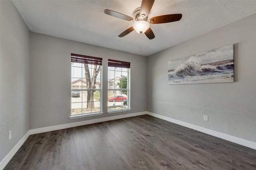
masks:
<svg viewBox="0 0 256 170"><path fill-rule="evenodd" d="M142 0L141 6L134 10L134 18L111 10L104 10L104 13L116 18L120 18L122 20L134 22L132 27L120 33L118 37L124 37L125 35L127 35L135 29L137 33L145 33L148 39L153 39L155 35L152 29L150 28L150 23L168 23L179 21L182 18L182 14L169 14L163 16L156 16L148 20L148 14L150 13L153 4L154 0Z"/></svg>

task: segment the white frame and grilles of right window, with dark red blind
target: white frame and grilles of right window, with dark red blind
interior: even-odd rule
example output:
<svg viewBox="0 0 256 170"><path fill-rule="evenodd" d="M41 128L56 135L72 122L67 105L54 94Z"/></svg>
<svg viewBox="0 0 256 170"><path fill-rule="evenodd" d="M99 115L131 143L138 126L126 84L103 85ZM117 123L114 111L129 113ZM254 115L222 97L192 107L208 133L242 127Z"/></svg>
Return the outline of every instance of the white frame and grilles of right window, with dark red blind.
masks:
<svg viewBox="0 0 256 170"><path fill-rule="evenodd" d="M109 79L109 71L113 71L113 70L110 70L110 67L127 68L127 71L126 71L127 72L127 88L108 88L108 92L109 91L121 91L121 90L127 91L127 107L122 108L122 109L113 109L113 110L108 110L108 108L107 108L107 113L123 112L124 114L126 114L128 111L131 110L131 107L130 107L131 106L130 105L130 63L129 62L124 62L124 61L117 61L117 60L108 59L108 81L110 80ZM114 76L114 79L115 78L116 78L116 76ZM108 86L109 85L110 84L108 83ZM114 82L113 82L113 86L114 87L116 86ZM114 96L123 96L123 94L114 94ZM122 104L122 106L123 106L123 104Z"/></svg>

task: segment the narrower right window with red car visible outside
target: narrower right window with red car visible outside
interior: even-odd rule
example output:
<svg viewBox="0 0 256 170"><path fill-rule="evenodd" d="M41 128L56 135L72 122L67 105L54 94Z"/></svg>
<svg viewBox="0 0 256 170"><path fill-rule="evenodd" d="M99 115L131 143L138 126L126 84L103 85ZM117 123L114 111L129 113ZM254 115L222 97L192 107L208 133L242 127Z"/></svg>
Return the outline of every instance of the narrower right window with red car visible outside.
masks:
<svg viewBox="0 0 256 170"><path fill-rule="evenodd" d="M130 63L108 60L108 113L130 110Z"/></svg>

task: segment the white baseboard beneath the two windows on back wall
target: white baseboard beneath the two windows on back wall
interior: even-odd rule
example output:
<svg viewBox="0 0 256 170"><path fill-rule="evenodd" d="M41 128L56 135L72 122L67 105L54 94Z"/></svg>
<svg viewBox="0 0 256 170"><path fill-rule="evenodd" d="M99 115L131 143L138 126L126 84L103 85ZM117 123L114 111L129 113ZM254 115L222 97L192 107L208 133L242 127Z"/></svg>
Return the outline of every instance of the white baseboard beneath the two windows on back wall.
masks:
<svg viewBox="0 0 256 170"><path fill-rule="evenodd" d="M143 112L138 112L138 113L129 113L129 114L118 115L118 116L103 117L103 118L99 118L99 119L92 119L92 120L79 121L79 122L74 122L74 123L67 123L67 124L63 124L63 125L42 127L42 128L38 128L38 129L30 129L30 135L37 134L37 133L56 131L56 130L60 130L60 129L70 128L70 127L89 125L89 124L92 124L92 123L99 123L99 122L104 122L104 121L122 119L122 118L126 118L126 117L146 115L146 114L147 114L147 111L143 111Z"/></svg>

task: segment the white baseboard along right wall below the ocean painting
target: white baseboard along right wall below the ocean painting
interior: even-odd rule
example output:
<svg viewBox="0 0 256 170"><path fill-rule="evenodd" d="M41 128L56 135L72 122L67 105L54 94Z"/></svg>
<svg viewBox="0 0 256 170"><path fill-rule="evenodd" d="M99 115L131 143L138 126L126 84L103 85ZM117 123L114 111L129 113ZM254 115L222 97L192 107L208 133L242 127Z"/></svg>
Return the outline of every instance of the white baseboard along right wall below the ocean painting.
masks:
<svg viewBox="0 0 256 170"><path fill-rule="evenodd" d="M241 139L241 138L238 138L238 137L234 137L234 136L231 136L231 135L227 135L227 134L224 134L224 133L220 133L220 132L217 132L217 131L206 129L204 127L192 125L190 123L186 123L186 122L183 122L183 121L172 119L170 117L158 115L156 113L148 112L147 114L151 115L151 116L154 116L154 117L157 117L157 118L160 118L160 119L163 119L163 120L166 120L166 121L170 121L170 122L178 124L178 125L182 125L184 127L188 127L190 129L194 129L196 131L200 131L202 133L206 133L208 135L212 135L212 136L215 136L215 137L218 137L218 138L221 138L221 139L225 139L225 140L233 142L233 143L237 143L239 145L243 145L243 146L248 147L248 148L256 149L256 143L254 143L252 141L247 141L245 139Z"/></svg>

